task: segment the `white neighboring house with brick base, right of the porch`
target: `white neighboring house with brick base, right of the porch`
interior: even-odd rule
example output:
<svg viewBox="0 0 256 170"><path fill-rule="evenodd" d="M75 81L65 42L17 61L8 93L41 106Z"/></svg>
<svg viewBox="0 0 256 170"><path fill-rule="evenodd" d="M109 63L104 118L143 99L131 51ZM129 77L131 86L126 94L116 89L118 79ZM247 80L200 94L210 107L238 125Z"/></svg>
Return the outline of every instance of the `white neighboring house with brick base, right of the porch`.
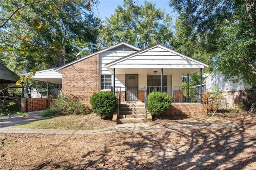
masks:
<svg viewBox="0 0 256 170"><path fill-rule="evenodd" d="M244 81L239 81L238 83L233 83L232 81L225 80L222 73L216 73L213 71L204 80L205 87L207 91L212 91L214 87L219 87L224 101L222 102L222 108L232 108L234 104L245 103L247 100L246 89L251 89L252 87L246 85Z"/></svg>

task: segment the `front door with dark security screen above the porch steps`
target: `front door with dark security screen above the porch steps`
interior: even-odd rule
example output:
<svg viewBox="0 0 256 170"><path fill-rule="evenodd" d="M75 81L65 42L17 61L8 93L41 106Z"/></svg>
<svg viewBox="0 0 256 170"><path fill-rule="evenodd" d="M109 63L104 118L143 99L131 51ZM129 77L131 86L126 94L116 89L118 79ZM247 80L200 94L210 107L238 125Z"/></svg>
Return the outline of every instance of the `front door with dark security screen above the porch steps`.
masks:
<svg viewBox="0 0 256 170"><path fill-rule="evenodd" d="M126 101L138 101L138 74L126 74Z"/></svg>

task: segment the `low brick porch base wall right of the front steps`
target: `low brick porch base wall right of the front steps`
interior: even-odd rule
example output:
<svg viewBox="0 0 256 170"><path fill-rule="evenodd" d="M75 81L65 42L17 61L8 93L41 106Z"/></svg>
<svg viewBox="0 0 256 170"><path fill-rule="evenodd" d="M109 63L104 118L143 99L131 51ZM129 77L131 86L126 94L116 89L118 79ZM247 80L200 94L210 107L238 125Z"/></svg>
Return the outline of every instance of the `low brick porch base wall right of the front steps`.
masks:
<svg viewBox="0 0 256 170"><path fill-rule="evenodd" d="M172 103L170 109L166 111L170 116L193 117L206 113L205 104L200 103Z"/></svg>

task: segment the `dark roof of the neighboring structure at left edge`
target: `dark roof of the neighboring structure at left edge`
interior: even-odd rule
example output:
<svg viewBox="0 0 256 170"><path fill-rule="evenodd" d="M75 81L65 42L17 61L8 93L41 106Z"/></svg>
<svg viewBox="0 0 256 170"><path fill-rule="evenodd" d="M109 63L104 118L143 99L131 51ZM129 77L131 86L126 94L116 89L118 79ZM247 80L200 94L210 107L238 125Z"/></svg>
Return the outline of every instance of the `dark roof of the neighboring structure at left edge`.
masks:
<svg viewBox="0 0 256 170"><path fill-rule="evenodd" d="M0 79L1 83L16 83L20 76L0 63Z"/></svg>

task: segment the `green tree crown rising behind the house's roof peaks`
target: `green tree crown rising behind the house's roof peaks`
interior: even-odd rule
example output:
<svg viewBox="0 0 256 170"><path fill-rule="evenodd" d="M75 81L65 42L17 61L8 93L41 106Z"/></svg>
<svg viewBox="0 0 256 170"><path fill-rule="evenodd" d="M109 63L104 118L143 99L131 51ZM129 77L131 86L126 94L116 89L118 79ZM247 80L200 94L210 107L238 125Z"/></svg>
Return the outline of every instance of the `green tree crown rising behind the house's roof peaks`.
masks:
<svg viewBox="0 0 256 170"><path fill-rule="evenodd" d="M106 18L106 25L100 30L100 46L127 42L141 49L156 43L172 47L171 20L164 9L156 8L151 2L139 6L136 1L126 0Z"/></svg>

